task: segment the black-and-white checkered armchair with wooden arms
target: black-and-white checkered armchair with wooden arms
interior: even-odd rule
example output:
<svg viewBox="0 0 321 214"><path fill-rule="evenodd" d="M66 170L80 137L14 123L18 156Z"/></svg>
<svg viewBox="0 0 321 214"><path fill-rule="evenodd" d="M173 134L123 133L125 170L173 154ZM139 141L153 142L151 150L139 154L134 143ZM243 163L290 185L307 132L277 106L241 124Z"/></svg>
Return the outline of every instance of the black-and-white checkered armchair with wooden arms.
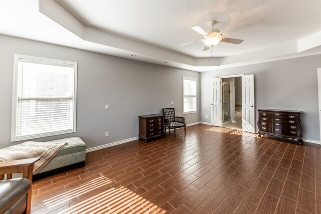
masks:
<svg viewBox="0 0 321 214"><path fill-rule="evenodd" d="M175 108L163 108L164 117L164 124L165 124L165 135L166 129L169 129L169 134L171 135L171 129L174 129L176 132L177 128L184 127L184 133L186 135L186 123L185 117L177 117L175 116Z"/></svg>

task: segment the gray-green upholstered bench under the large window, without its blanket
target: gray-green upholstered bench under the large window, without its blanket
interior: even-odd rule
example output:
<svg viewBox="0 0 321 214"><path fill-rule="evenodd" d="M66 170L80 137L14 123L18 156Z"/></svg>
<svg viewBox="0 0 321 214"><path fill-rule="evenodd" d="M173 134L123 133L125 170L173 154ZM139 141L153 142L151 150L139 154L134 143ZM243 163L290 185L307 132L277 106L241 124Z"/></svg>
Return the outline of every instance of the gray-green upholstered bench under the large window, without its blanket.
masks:
<svg viewBox="0 0 321 214"><path fill-rule="evenodd" d="M34 178L71 167L85 166L86 145L79 137L70 137L48 142L68 142L59 152L37 173Z"/></svg>

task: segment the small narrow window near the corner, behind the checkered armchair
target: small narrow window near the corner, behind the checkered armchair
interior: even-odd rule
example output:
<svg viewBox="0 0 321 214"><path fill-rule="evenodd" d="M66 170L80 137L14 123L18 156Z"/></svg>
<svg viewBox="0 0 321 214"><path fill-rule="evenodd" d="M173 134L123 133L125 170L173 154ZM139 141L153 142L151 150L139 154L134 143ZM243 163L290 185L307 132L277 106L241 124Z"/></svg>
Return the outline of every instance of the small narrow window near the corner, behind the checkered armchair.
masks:
<svg viewBox="0 0 321 214"><path fill-rule="evenodd" d="M183 114L196 113L196 78L183 77Z"/></svg>

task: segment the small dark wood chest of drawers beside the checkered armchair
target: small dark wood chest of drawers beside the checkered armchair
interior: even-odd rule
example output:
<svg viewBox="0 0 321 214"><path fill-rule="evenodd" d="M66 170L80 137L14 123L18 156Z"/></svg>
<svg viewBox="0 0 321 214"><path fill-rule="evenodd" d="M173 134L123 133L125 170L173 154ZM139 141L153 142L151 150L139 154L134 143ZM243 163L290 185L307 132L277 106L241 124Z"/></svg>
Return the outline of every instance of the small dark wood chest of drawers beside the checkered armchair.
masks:
<svg viewBox="0 0 321 214"><path fill-rule="evenodd" d="M139 117L139 139L147 142L149 139L164 137L164 115L149 114Z"/></svg>

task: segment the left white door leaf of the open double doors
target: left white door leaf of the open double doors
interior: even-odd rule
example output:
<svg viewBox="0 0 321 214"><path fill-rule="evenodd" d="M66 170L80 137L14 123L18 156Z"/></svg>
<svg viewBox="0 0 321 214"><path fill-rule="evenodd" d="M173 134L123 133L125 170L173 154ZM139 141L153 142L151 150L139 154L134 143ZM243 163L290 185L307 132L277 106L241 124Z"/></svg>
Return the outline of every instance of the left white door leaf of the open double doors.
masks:
<svg viewBox="0 0 321 214"><path fill-rule="evenodd" d="M222 126L221 78L211 79L211 125Z"/></svg>

